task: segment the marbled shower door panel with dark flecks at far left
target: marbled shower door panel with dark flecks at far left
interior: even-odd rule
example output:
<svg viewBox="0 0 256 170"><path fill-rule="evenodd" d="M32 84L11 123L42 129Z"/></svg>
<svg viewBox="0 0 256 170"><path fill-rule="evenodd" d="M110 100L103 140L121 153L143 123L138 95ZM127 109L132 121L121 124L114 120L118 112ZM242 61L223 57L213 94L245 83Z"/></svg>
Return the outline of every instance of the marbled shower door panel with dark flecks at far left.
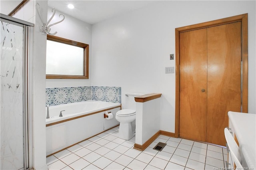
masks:
<svg viewBox="0 0 256 170"><path fill-rule="evenodd" d="M27 167L26 26L0 23L0 169Z"/></svg>

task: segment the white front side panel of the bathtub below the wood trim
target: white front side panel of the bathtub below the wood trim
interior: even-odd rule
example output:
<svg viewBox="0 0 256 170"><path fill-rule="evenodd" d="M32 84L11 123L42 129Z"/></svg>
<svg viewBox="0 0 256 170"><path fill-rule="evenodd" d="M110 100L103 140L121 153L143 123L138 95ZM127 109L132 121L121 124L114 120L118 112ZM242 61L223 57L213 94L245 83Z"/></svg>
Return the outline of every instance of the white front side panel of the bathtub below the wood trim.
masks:
<svg viewBox="0 0 256 170"><path fill-rule="evenodd" d="M54 106L55 107L55 106ZM121 108L108 109L114 116ZM104 110L104 108L103 108ZM104 119L105 111L92 114L79 119L66 121L52 126L46 127L46 155L73 146L87 138L95 136L104 130L115 127L119 124L116 119ZM75 133L74 133L75 132ZM61 141L60 141L61 140Z"/></svg>

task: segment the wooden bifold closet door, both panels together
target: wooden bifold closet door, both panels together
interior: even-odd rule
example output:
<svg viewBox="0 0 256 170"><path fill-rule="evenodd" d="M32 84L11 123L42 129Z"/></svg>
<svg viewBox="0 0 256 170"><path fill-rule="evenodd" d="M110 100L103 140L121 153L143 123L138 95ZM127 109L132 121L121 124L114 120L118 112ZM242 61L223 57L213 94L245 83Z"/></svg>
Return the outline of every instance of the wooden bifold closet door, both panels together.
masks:
<svg viewBox="0 0 256 170"><path fill-rule="evenodd" d="M180 137L225 146L241 111L241 22L180 33Z"/></svg>

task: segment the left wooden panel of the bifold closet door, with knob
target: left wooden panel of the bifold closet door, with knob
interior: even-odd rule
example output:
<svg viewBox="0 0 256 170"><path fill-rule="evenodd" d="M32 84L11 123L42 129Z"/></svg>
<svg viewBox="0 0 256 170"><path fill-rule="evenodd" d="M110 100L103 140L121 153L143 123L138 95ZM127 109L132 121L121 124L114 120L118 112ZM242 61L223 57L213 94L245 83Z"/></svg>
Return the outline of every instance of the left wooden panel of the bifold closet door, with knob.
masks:
<svg viewBox="0 0 256 170"><path fill-rule="evenodd" d="M200 141L206 141L206 42L206 29L180 33L180 137Z"/></svg>

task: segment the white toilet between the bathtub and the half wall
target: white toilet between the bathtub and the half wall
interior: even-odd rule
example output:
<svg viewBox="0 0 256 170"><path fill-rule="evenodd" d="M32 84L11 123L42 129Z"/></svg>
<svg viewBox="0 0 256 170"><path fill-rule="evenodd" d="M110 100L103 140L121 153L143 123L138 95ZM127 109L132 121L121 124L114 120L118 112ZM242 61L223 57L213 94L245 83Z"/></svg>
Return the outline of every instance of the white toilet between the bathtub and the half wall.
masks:
<svg viewBox="0 0 256 170"><path fill-rule="evenodd" d="M116 120L120 122L118 137L129 140L135 136L136 102L134 97L143 95L140 93L126 93L125 107L116 113ZM132 125L134 125L132 127Z"/></svg>

